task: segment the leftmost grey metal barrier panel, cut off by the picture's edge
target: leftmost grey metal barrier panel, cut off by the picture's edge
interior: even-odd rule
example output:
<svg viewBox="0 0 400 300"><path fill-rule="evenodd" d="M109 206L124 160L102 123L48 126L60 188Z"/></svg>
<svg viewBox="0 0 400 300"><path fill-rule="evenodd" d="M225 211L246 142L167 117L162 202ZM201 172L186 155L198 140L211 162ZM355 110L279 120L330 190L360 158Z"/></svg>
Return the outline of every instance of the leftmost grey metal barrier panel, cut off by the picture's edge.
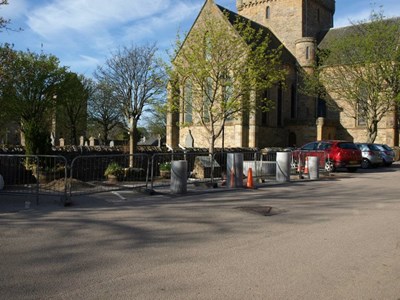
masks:
<svg viewBox="0 0 400 300"><path fill-rule="evenodd" d="M2 193L67 195L67 161L57 155L0 155Z"/></svg>

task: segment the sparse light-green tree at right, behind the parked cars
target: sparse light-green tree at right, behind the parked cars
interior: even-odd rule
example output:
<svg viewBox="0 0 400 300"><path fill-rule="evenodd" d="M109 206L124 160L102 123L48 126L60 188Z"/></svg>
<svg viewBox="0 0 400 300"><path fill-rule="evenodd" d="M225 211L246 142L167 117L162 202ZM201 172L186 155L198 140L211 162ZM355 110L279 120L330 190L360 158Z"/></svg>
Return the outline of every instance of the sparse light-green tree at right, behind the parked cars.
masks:
<svg viewBox="0 0 400 300"><path fill-rule="evenodd" d="M367 142L375 141L378 124L388 113L394 112L398 128L399 19L385 19L382 12L372 12L369 20L353 24L330 41L319 53L319 60L314 74L306 80L308 88L365 126ZM395 136L398 139L398 132Z"/></svg>

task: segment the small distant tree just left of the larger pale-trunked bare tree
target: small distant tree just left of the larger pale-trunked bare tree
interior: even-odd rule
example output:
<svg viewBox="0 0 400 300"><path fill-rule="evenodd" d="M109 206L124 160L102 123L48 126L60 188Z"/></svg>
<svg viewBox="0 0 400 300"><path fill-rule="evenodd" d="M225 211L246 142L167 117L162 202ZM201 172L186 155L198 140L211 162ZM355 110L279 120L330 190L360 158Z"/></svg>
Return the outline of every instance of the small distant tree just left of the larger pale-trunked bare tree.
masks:
<svg viewBox="0 0 400 300"><path fill-rule="evenodd" d="M89 118L101 128L100 136L107 143L110 132L122 122L121 107L116 103L116 95L107 82L93 85L93 93L88 103Z"/></svg>

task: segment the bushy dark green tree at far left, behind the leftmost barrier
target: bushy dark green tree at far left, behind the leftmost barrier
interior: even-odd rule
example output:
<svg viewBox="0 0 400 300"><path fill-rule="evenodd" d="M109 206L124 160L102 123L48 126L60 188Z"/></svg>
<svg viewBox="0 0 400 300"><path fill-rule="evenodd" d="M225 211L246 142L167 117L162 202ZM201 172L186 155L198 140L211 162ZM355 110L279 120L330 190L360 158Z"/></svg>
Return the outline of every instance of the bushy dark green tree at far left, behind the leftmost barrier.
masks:
<svg viewBox="0 0 400 300"><path fill-rule="evenodd" d="M3 66L1 95L11 115L20 121L27 154L47 154L51 149L50 125L54 95L64 79L65 68L53 55L13 52Z"/></svg>

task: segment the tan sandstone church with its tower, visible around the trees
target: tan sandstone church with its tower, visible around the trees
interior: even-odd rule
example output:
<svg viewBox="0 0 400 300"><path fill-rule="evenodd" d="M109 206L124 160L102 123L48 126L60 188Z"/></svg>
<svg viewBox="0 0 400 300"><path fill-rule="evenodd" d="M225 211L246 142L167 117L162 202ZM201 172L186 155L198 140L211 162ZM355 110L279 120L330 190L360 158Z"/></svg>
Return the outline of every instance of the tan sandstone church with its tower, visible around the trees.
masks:
<svg viewBox="0 0 400 300"><path fill-rule="evenodd" d="M357 120L349 119L339 110L331 110L321 99L299 92L299 68L307 70L312 67L317 48L324 40L335 36L332 34L335 30L340 30L332 29L335 0L237 0L236 7L237 14L262 26L272 39L283 44L282 58L287 76L284 88L277 85L268 91L268 97L275 102L273 110L256 110L246 121L227 121L215 146L261 149L301 146L322 139L365 142L365 127ZM213 0L207 0L193 26L203 14L224 17L224 12L237 15ZM183 111L168 114L167 144L173 148L179 145L207 148L204 129L201 126L180 126L184 120ZM397 140L394 137L398 135L394 120L394 116L389 114L380 122L376 142L394 146Z"/></svg>

